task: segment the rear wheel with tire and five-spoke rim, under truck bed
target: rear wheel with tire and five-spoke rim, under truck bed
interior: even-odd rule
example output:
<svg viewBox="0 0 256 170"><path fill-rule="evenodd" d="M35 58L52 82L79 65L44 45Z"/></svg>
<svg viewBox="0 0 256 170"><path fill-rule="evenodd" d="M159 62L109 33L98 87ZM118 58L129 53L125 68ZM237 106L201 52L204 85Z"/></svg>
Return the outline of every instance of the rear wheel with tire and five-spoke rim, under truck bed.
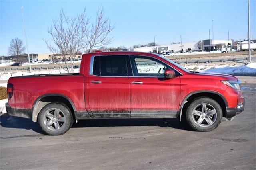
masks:
<svg viewBox="0 0 256 170"><path fill-rule="evenodd" d="M73 125L73 116L65 104L50 103L41 109L38 123L46 134L62 135Z"/></svg>

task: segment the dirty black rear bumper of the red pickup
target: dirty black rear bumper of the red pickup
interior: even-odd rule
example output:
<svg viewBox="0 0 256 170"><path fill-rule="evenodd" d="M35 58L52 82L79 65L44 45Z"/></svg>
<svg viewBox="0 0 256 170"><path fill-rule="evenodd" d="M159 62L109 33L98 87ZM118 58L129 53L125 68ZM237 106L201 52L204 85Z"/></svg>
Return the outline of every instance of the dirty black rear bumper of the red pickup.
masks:
<svg viewBox="0 0 256 170"><path fill-rule="evenodd" d="M24 117L32 119L32 109L17 109L9 106L8 103L5 104L6 112L10 116Z"/></svg>

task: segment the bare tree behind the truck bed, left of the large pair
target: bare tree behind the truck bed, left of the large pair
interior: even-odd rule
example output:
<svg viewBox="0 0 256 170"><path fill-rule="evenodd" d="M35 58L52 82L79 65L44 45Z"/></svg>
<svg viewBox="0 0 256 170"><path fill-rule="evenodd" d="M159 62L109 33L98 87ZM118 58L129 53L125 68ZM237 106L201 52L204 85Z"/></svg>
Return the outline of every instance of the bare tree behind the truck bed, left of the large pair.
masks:
<svg viewBox="0 0 256 170"><path fill-rule="evenodd" d="M61 9L58 19L48 28L50 40L44 39L44 42L52 53L52 60L59 65L60 59L64 61L65 66L60 66L68 73L74 72L74 58L82 49L87 27L86 9L74 17L68 17Z"/></svg>

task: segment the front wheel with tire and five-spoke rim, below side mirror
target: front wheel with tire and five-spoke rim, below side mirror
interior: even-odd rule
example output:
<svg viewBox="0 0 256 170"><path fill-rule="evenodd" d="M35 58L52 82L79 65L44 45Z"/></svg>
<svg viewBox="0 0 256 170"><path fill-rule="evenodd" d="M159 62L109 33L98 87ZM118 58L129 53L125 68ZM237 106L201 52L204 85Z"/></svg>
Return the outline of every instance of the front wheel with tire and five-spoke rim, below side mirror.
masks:
<svg viewBox="0 0 256 170"><path fill-rule="evenodd" d="M188 106L186 119L195 131L212 131L221 123L222 109L212 98L197 98Z"/></svg>

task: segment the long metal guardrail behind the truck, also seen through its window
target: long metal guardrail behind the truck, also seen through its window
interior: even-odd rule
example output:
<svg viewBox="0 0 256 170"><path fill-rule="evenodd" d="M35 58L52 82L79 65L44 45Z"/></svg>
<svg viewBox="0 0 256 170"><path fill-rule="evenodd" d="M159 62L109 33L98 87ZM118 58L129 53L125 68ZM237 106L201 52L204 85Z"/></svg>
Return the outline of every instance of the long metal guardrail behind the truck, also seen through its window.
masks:
<svg viewBox="0 0 256 170"><path fill-rule="evenodd" d="M252 59L256 59L256 57L252 57ZM207 60L178 60L173 62L180 64L180 63L212 63L212 62L224 62L224 61L241 61L241 60L248 60L248 57L240 57L240 58L232 58L232 59L207 59ZM137 65L152 65L157 64L155 61L138 61L136 62ZM67 68L67 66L62 66L63 68ZM70 67L70 66L69 66ZM79 68L79 65L74 65L74 68ZM32 66L32 70L48 70L48 69L60 69L60 66ZM28 70L29 67L13 67L13 68L0 68L0 71L11 71L11 70Z"/></svg>

